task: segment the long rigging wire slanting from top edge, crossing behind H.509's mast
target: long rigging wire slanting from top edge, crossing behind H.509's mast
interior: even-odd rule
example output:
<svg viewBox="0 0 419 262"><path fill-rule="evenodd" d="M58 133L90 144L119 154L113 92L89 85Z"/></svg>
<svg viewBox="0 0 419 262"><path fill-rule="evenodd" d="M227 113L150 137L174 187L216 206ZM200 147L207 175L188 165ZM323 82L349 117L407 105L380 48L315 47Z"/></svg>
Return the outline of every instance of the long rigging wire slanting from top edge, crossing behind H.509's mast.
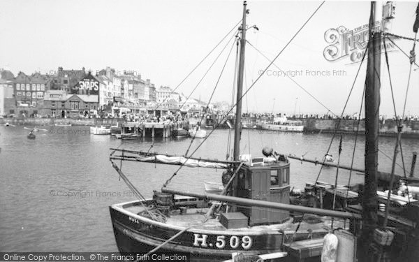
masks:
<svg viewBox="0 0 419 262"><path fill-rule="evenodd" d="M294 40L294 38L300 33L300 31L302 31L302 29L304 29L304 27L306 26L306 24L311 20L312 17L314 17L314 15L317 13L317 11L321 8L321 6L323 6L323 4L325 3L325 1L322 1L321 4L318 6L318 8L316 8L316 10L314 10L314 13L312 13L310 15L310 17L307 19L306 22L304 22L304 24L302 24L302 26L300 27L300 29L298 29L298 31L294 34L294 36L288 41L288 43L284 46L284 48L282 48L282 50L277 54L277 56L272 60L272 62L265 68L265 70L263 71L263 73L261 73L258 78L256 78L255 82L252 83L252 85L249 87L249 89L247 89L246 92L244 92L244 94L242 94L242 96L240 96L239 99L237 99L236 103L230 108L230 110L228 110L228 112L226 113L226 115L224 115L223 119L221 119L222 121L224 119L226 119L226 117L228 116L228 114L230 114L230 112L236 107L237 103L239 101L242 101L243 97L246 96L246 94L251 90L251 88L256 84L256 82L258 82L258 80L262 77L262 75L267 71L268 68L270 68L270 66L274 63L274 61L279 57L279 55L282 54L282 52L284 52L284 50L286 50L286 48L288 47L288 45ZM221 122L222 122L221 121ZM236 123L237 124L237 123ZM198 149L203 145L203 143L205 143L205 141L207 140L207 138L209 138L211 136L211 134L215 131L215 129L212 129L212 131L210 131L210 134L205 137L203 139L203 141L198 145L198 147L196 147L196 149L189 155L189 157L186 156L186 158L190 158L193 156L193 154L195 154ZM177 170L177 172L183 167L180 166L179 169ZM174 177L175 175L177 175L177 173L174 173L172 175L172 177ZM168 181L166 181L165 184L163 184L163 187L166 187L168 182L170 182L170 180L172 179L172 177L169 178Z"/></svg>

